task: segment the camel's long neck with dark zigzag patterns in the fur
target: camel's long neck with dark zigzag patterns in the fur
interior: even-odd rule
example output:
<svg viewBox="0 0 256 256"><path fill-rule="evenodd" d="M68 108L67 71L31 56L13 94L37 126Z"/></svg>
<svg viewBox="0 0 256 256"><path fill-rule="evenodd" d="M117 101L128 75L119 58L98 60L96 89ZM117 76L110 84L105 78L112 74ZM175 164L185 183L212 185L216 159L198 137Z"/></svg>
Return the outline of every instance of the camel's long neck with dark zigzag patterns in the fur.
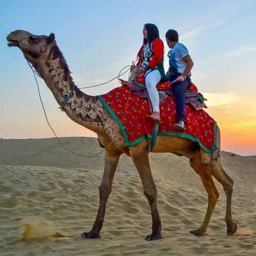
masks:
<svg viewBox="0 0 256 256"><path fill-rule="evenodd" d="M78 88L70 75L70 70L58 47L53 49L48 59L40 65L39 74L45 80L62 110L75 122L98 133L102 126L103 104L97 96L90 96ZM44 67L45 66L45 67Z"/></svg>

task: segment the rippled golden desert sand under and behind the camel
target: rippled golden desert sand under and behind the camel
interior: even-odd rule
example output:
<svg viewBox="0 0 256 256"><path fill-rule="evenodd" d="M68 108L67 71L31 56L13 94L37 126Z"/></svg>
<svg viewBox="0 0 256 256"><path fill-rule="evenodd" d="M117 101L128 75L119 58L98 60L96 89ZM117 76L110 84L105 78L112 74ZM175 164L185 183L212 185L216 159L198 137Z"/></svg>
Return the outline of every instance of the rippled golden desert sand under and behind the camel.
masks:
<svg viewBox="0 0 256 256"><path fill-rule="evenodd" d="M80 154L101 150L95 138L61 140ZM101 238L84 240L81 234L91 230L98 208L103 153L89 159L77 157L54 138L2 139L0 255L256 255L256 156L221 155L234 180L233 219L240 232L249 231L249 236L226 235L226 196L217 181L220 198L206 236L190 234L206 212L201 181L185 157L151 154L163 240L144 240L151 233L150 207L126 156L117 167Z"/></svg>

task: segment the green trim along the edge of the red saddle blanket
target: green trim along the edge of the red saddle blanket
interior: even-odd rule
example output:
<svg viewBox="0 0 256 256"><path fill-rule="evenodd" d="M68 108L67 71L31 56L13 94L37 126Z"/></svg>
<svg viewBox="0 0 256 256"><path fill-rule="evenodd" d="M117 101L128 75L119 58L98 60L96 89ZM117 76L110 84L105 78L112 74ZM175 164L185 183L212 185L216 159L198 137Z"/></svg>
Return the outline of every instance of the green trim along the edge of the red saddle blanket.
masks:
<svg viewBox="0 0 256 256"><path fill-rule="evenodd" d="M109 111L109 113L111 114L111 116L114 118L114 120L116 120L116 122L118 123L119 127L120 127L120 130L122 132L122 135L124 137L124 142L127 146L134 146L146 139L151 139L152 136L150 134L146 134L145 136L143 137L140 137L132 142L130 142L128 140L128 136L125 132L125 126L122 125L120 119L117 117L117 115L114 113L114 111L110 108L110 106L108 105L108 103L106 103L105 99L102 98L101 96L98 96L100 101L103 103L103 105L105 106L105 108ZM191 135L187 135L187 134L184 134L184 133L179 133L179 132L161 132L159 133L158 135L159 136L176 136L176 137L181 137L181 138L185 138L185 139L189 139L191 141L194 141L194 142L197 142L202 148L203 150L206 152L206 153L209 153L209 154L212 154L216 151L216 142L217 142L217 123L215 121L215 125L214 125L214 130L215 130L215 140L214 140L214 145L212 146L212 148L209 150L207 147L205 147L203 144L201 144L201 142L199 141L198 138L196 137L193 137Z"/></svg>

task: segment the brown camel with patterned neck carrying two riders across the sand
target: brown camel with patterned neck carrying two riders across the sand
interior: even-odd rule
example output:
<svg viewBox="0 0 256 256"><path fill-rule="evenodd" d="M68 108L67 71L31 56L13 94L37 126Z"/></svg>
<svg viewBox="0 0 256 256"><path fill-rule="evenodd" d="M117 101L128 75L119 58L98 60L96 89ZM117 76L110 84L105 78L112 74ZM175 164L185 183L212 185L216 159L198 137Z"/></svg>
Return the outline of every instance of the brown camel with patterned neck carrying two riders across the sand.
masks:
<svg viewBox="0 0 256 256"><path fill-rule="evenodd" d="M55 35L33 35L23 30L11 32L7 40L10 47L18 47L25 58L32 64L38 74L45 80L56 101L62 106L69 95L69 102L62 106L63 111L73 121L97 133L105 148L105 166L99 186L99 208L96 220L90 232L84 232L82 238L100 238L100 230L105 216L105 208L111 193L113 178L121 154L130 156L138 170L143 184L143 193L151 207L152 233L146 236L147 241L158 240L161 235L161 219L157 208L157 188L153 180L148 147L150 142L144 140L135 146L127 146L118 123L112 118L97 96L89 96L74 89L74 82L69 67L60 52ZM73 92L73 94L72 94ZM220 129L217 132L217 149L208 154L198 143L175 136L158 136L153 153L179 153L189 159L191 167L200 176L208 194L208 208L202 225L190 231L195 236L203 236L210 221L212 211L217 203L219 193L212 176L219 181L226 194L227 234L237 230L237 224L231 216L231 196L233 180L225 173L220 159Z"/></svg>

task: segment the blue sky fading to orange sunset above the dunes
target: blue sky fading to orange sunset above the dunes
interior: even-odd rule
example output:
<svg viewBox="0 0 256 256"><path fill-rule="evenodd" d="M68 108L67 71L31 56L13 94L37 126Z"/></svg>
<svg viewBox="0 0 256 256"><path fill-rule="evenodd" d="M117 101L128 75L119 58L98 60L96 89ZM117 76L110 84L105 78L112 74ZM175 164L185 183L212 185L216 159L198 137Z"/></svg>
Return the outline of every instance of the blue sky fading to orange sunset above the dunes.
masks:
<svg viewBox="0 0 256 256"><path fill-rule="evenodd" d="M22 29L55 33L78 87L110 80L131 65L142 45L145 23L175 29L194 61L192 81L207 98L206 110L221 129L221 149L256 155L256 0L232 1L3 1L0 8L0 138L54 137L47 125L34 77L18 48L6 36ZM124 76L123 79L126 77ZM58 109L39 79L49 121L59 137L96 134ZM104 94L117 80L84 90Z"/></svg>

